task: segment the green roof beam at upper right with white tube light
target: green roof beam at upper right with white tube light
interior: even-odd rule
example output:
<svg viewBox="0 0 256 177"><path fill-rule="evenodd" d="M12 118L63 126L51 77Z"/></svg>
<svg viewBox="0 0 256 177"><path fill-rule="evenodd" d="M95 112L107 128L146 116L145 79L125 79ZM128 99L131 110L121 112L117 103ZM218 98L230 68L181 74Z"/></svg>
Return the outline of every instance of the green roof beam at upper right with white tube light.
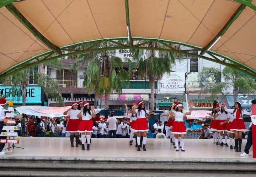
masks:
<svg viewBox="0 0 256 177"><path fill-rule="evenodd" d="M232 17L229 19L229 21L224 25L224 27L219 31L219 33L205 46L202 48L202 51L200 53L200 56L203 56L204 53L206 53L210 48L212 48L220 39L221 36L223 36L230 27L230 25L239 17L239 15L242 13L242 11L245 9L246 5L241 4L238 9L235 11L235 13L232 15Z"/></svg>

